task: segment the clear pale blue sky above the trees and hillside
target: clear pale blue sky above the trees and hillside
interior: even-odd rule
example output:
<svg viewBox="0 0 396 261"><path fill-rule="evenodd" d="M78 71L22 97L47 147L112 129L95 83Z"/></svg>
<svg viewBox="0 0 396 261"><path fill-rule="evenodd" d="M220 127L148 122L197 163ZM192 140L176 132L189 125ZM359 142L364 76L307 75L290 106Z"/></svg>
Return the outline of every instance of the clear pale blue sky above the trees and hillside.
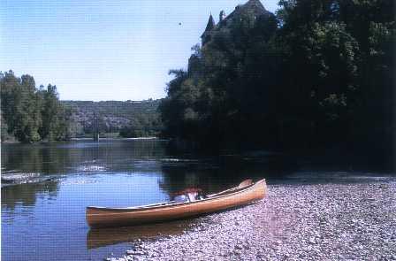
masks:
<svg viewBox="0 0 396 261"><path fill-rule="evenodd" d="M166 96L210 12L247 0L1 0L0 71L57 85L61 100ZM262 0L275 12L278 0Z"/></svg>

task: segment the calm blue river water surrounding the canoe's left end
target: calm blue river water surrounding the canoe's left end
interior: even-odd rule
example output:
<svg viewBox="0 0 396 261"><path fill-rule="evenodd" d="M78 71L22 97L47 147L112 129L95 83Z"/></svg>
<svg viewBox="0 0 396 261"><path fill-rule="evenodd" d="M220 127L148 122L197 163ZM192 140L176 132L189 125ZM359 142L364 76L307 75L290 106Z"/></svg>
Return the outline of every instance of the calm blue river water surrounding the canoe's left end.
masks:
<svg viewBox="0 0 396 261"><path fill-rule="evenodd" d="M88 205L126 207L170 199L200 187L209 192L262 167L231 166L212 157L175 156L160 140L73 141L2 145L2 260L102 260L130 242L179 234L194 219L133 228L90 230ZM16 183L16 184L15 184Z"/></svg>

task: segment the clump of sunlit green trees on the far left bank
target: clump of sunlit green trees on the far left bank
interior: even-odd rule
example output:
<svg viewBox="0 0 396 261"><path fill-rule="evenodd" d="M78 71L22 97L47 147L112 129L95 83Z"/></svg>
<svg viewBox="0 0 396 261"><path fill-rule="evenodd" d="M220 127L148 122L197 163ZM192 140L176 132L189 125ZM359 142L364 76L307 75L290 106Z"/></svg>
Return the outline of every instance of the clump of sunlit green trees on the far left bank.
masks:
<svg viewBox="0 0 396 261"><path fill-rule="evenodd" d="M2 141L15 136L19 142L70 138L70 111L60 104L57 87L35 87L30 75L16 77L0 72Z"/></svg>

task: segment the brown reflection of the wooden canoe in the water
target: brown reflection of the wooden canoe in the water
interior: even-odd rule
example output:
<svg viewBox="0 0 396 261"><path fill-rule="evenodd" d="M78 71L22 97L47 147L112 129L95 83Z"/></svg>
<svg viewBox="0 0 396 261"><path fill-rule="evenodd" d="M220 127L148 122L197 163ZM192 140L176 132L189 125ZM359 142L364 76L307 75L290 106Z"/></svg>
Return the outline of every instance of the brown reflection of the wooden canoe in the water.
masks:
<svg viewBox="0 0 396 261"><path fill-rule="evenodd" d="M91 228L87 234L87 249L102 248L137 239L152 239L158 236L183 234L196 225L196 220L186 219L141 226Z"/></svg>

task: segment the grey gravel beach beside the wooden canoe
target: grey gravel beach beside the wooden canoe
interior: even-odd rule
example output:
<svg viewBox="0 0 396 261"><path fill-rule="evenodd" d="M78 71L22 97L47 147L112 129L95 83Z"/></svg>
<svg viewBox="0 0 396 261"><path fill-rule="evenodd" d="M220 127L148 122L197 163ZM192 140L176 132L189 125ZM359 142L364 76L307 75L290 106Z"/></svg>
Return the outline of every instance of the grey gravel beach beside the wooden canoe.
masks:
<svg viewBox="0 0 396 261"><path fill-rule="evenodd" d="M105 260L396 260L396 179L304 175Z"/></svg>

